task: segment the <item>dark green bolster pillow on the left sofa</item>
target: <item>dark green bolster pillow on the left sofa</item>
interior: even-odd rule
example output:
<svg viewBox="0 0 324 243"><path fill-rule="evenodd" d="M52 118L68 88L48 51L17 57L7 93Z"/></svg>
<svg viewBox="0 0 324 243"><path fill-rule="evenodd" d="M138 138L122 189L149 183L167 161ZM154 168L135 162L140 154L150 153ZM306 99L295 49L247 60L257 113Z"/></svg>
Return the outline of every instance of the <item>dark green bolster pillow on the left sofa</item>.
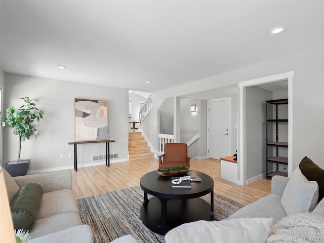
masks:
<svg viewBox="0 0 324 243"><path fill-rule="evenodd" d="M36 183L29 183L19 189L10 202L11 216L15 229L31 229L34 225L43 188Z"/></svg>

